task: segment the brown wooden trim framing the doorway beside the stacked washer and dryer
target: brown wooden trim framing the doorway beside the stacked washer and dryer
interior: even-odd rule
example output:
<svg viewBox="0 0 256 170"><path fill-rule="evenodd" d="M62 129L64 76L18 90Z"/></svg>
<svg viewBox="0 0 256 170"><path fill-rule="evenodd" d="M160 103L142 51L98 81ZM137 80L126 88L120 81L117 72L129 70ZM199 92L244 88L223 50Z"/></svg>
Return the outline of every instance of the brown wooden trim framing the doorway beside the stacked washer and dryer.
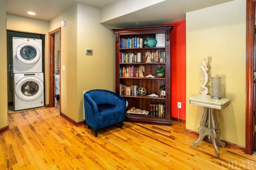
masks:
<svg viewBox="0 0 256 170"><path fill-rule="evenodd" d="M49 32L49 107L55 107L55 68L54 68L54 40L55 35L60 34L60 56L61 56L61 28ZM60 57L61 63L61 57ZM60 75L61 77L61 75ZM60 83L61 87L61 83ZM60 88L61 91L61 88ZM61 93L60 93L61 94ZM60 97L61 112L61 97Z"/></svg>

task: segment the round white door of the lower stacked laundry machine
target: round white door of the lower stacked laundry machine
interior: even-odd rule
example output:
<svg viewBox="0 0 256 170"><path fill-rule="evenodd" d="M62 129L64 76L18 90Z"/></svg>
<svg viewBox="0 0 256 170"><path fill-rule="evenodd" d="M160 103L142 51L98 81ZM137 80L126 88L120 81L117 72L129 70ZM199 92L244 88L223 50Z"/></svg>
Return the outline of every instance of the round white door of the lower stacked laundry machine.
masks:
<svg viewBox="0 0 256 170"><path fill-rule="evenodd" d="M24 101L38 99L44 92L44 84L37 77L28 76L20 79L15 87L16 95Z"/></svg>

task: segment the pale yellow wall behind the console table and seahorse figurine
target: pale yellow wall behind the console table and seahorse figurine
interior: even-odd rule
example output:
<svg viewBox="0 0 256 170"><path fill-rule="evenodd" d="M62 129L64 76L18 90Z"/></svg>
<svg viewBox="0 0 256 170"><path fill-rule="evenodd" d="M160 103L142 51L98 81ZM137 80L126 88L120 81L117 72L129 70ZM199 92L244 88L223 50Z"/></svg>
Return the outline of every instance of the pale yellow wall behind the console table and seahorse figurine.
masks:
<svg viewBox="0 0 256 170"><path fill-rule="evenodd" d="M186 14L186 128L200 127L203 107L190 105L199 94L200 62L208 57L208 75L221 77L223 97L231 103L217 110L222 140L245 146L246 0L234 0ZM209 91L211 94L211 91Z"/></svg>

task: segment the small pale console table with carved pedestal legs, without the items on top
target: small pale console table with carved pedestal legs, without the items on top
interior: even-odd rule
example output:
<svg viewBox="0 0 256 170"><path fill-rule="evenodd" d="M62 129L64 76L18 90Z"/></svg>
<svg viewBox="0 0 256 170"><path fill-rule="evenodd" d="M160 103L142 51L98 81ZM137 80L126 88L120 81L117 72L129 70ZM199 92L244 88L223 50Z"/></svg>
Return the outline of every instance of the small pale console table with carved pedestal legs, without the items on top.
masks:
<svg viewBox="0 0 256 170"><path fill-rule="evenodd" d="M212 144L216 156L219 156L216 140L220 143L222 148L225 148L226 143L220 140L219 122L214 109L224 109L229 105L230 99L211 99L211 97L196 95L189 97L189 101L192 105L204 107L204 115L200 123L200 128L198 129L199 138L193 142L194 148L198 146L205 136L208 136L209 139L212 138Z"/></svg>

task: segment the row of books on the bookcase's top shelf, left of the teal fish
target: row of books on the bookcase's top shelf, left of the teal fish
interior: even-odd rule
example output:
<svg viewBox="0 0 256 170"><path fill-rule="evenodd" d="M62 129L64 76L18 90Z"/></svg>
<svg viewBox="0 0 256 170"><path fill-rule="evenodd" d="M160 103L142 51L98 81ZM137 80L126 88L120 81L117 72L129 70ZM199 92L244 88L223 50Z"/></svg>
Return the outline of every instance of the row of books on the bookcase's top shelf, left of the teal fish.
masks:
<svg viewBox="0 0 256 170"><path fill-rule="evenodd" d="M119 44L120 48L142 48L143 38L120 38Z"/></svg>

